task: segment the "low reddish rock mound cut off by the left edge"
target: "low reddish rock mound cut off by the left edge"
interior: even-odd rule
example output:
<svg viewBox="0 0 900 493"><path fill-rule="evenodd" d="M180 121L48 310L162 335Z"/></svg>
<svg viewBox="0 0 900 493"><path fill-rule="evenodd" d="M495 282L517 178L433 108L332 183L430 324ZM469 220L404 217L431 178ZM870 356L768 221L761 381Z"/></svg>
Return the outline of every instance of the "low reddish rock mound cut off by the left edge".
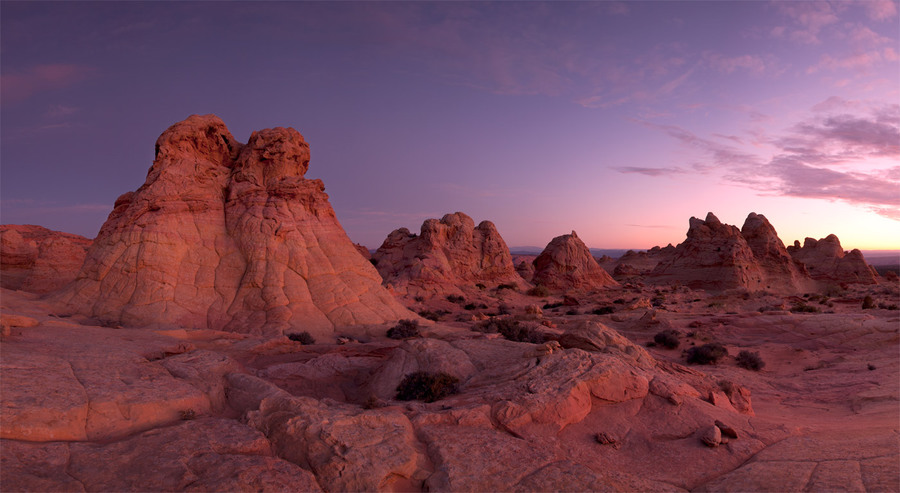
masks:
<svg viewBox="0 0 900 493"><path fill-rule="evenodd" d="M41 226L0 225L0 286L49 293L72 282L91 240Z"/></svg>

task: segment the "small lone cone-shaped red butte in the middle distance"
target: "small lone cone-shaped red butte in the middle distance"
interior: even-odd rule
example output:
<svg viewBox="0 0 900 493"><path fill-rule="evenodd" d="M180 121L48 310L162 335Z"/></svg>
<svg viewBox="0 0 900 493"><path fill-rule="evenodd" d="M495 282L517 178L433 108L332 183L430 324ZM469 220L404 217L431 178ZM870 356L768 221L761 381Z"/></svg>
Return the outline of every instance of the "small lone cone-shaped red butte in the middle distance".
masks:
<svg viewBox="0 0 900 493"><path fill-rule="evenodd" d="M597 264L590 250L578 235L557 236L534 259L534 284L550 289L595 289L618 286L603 268Z"/></svg>

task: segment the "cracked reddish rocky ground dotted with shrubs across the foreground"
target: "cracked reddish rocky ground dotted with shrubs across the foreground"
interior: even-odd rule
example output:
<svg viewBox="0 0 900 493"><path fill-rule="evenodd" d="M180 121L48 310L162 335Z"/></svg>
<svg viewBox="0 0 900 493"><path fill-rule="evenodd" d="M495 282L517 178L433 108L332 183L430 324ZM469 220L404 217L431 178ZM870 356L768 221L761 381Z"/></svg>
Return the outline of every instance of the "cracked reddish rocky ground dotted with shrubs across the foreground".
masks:
<svg viewBox="0 0 900 493"><path fill-rule="evenodd" d="M406 302L438 319L420 337L367 325L304 345L82 325L3 290L0 489L900 489L895 284ZM546 342L472 330L492 318ZM648 347L664 330L679 347ZM710 342L729 355L687 364ZM738 366L742 350L764 368ZM459 392L397 400L417 370Z"/></svg>

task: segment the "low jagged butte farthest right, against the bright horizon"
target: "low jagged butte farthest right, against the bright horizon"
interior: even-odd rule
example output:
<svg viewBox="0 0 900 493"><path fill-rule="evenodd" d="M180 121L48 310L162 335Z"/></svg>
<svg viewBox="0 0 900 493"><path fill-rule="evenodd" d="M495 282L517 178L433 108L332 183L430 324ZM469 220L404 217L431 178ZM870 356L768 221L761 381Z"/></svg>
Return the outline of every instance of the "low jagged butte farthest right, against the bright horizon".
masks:
<svg viewBox="0 0 900 493"><path fill-rule="evenodd" d="M841 240L835 235L818 241L806 238L803 247L799 241L794 241L787 252L805 265L816 280L874 284L878 279L878 273L866 263L862 252L854 249L845 253Z"/></svg>

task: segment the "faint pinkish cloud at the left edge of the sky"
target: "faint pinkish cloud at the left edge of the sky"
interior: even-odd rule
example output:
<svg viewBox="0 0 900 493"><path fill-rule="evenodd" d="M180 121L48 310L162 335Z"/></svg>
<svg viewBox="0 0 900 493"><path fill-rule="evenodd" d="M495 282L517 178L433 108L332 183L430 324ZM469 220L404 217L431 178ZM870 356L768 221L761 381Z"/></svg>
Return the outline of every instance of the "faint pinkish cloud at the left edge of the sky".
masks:
<svg viewBox="0 0 900 493"><path fill-rule="evenodd" d="M24 101L32 95L68 87L94 72L92 67L76 64L44 64L0 75L0 100L4 104Z"/></svg>

